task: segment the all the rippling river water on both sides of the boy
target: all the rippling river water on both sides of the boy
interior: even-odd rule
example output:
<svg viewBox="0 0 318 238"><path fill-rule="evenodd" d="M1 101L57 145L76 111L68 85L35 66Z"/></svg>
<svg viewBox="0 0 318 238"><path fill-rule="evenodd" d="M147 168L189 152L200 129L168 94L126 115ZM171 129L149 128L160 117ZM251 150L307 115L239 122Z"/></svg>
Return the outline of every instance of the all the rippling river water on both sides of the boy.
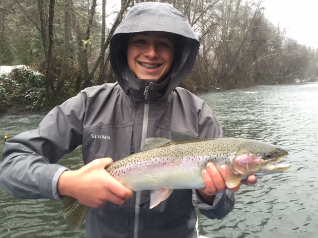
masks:
<svg viewBox="0 0 318 238"><path fill-rule="evenodd" d="M256 86L198 94L213 109L224 136L267 141L289 151L291 169L258 178L236 192L223 220L199 215L200 235L210 238L316 238L318 235L318 83ZM44 113L0 116L0 136L34 129ZM0 137L0 139L1 139ZM1 139L2 140L2 139ZM3 146L0 144L0 152ZM59 162L81 166L81 151ZM58 201L20 200L0 189L0 238L83 238L71 232Z"/></svg>

